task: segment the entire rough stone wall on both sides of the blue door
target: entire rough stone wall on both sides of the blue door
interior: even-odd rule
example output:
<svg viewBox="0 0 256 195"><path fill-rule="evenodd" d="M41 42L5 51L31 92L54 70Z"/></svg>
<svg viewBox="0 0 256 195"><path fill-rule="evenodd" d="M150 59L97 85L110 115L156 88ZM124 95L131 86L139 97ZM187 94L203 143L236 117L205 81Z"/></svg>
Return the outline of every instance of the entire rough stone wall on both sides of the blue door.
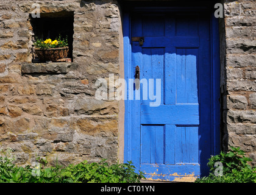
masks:
<svg viewBox="0 0 256 195"><path fill-rule="evenodd" d="M74 12L73 62L47 65L31 63L34 2L0 1L0 147L11 147L22 165L37 157L115 162L123 110L94 94L97 78L123 74L118 2L38 1L41 13ZM219 21L222 149L240 146L255 164L255 1L224 1Z"/></svg>

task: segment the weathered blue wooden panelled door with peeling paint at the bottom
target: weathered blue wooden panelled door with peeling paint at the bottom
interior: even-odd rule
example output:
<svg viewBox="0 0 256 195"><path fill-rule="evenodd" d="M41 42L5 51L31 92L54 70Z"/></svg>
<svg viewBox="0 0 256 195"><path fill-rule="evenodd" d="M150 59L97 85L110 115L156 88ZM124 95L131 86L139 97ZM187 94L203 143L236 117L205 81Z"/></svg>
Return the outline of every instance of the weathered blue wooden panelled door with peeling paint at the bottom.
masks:
<svg viewBox="0 0 256 195"><path fill-rule="evenodd" d="M131 18L130 71L135 75L139 66L142 81L133 88L134 99L136 93L140 99L132 102L129 160L148 179L190 181L206 168L212 144L209 18L199 13Z"/></svg>

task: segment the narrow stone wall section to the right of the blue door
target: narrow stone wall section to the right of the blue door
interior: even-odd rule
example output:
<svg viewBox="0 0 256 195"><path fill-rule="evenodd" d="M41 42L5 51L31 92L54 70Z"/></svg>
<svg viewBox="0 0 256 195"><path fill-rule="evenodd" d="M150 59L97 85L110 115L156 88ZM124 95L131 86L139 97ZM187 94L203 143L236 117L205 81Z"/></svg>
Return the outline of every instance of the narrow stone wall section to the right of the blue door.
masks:
<svg viewBox="0 0 256 195"><path fill-rule="evenodd" d="M225 1L226 77L224 94L224 144L239 146L256 164L256 2ZM222 40L224 41L224 40ZM223 59L224 57L224 59ZM226 117L225 117L226 116ZM227 149L227 147L225 147Z"/></svg>

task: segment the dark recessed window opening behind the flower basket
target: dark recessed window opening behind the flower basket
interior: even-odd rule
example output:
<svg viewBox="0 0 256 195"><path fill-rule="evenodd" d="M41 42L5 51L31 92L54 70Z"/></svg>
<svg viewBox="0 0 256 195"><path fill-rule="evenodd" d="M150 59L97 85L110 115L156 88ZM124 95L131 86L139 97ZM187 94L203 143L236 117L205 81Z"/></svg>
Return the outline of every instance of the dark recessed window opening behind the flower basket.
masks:
<svg viewBox="0 0 256 195"><path fill-rule="evenodd" d="M62 38L68 37L68 58L73 61L73 34L74 34L74 12L52 12L40 13L40 18L33 18L31 15L30 24L33 29L32 41L36 38L55 40L59 35ZM33 51L33 63L43 63Z"/></svg>

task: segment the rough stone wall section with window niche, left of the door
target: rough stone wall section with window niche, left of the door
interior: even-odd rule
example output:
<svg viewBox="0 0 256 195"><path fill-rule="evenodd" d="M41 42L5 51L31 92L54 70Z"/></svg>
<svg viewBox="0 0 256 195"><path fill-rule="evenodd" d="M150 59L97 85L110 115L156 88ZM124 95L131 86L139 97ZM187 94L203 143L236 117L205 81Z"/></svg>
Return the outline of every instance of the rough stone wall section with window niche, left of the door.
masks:
<svg viewBox="0 0 256 195"><path fill-rule="evenodd" d="M40 12L74 12L73 62L32 64L35 1L0 1L0 147L17 163L118 157L118 102L94 98L97 78L119 76L116 1L40 1ZM65 25L65 24L63 24Z"/></svg>

